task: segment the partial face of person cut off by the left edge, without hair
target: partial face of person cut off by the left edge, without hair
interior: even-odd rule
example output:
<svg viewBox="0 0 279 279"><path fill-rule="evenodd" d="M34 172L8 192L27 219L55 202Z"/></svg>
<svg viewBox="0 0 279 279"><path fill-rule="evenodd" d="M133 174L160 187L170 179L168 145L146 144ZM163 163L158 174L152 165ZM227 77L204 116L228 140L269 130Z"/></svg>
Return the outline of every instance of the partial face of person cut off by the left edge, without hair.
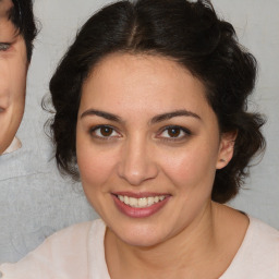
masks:
<svg viewBox="0 0 279 279"><path fill-rule="evenodd" d="M0 155L21 123L27 74L25 41L9 19L11 0L0 0Z"/></svg>

